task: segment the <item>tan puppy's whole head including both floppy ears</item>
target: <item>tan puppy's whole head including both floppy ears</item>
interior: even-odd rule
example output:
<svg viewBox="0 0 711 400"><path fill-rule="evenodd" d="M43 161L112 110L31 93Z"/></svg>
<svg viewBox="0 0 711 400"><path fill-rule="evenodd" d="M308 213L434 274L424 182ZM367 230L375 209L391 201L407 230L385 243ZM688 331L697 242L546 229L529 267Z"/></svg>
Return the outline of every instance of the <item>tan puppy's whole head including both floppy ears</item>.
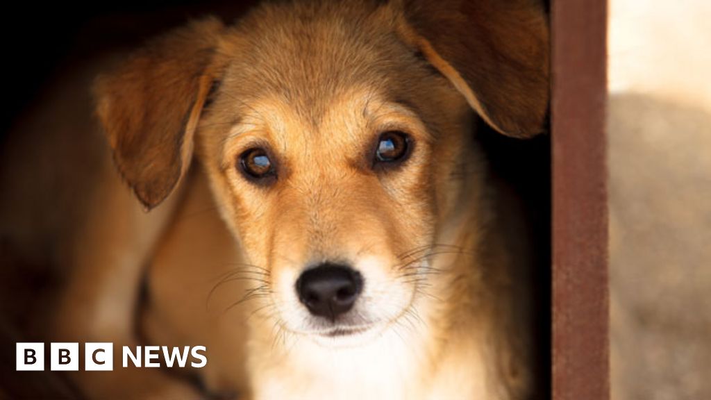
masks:
<svg viewBox="0 0 711 400"><path fill-rule="evenodd" d="M456 46L435 48L404 7L312 2L263 7L229 29L195 23L99 85L114 157L146 206L169 194L196 143L221 214L260 276L255 290L291 332L355 335L405 314L438 231L480 169L471 107L503 132L542 123L539 101L500 95L540 108L512 117L501 111L510 105L476 93L481 70L455 68ZM166 60L171 51L181 54ZM153 82L166 74L179 79ZM136 97L129 78L140 80L140 111L122 105ZM146 85L184 98L165 106ZM167 133L150 139L134 126Z"/></svg>

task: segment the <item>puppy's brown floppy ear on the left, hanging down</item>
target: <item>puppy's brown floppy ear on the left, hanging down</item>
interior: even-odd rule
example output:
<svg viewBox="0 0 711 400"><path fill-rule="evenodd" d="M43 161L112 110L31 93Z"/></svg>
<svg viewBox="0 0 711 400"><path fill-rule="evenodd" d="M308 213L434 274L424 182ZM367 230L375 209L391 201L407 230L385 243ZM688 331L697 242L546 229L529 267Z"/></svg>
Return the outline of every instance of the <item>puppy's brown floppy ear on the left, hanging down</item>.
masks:
<svg viewBox="0 0 711 400"><path fill-rule="evenodd" d="M171 193L190 164L222 30L217 19L195 21L97 78L97 112L114 162L146 209Z"/></svg>

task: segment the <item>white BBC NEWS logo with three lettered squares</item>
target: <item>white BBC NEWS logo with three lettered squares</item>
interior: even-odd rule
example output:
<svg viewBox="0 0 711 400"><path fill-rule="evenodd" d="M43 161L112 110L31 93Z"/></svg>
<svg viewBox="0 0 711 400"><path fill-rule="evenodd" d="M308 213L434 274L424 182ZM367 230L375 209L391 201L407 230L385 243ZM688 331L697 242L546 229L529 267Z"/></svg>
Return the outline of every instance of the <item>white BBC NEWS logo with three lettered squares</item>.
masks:
<svg viewBox="0 0 711 400"><path fill-rule="evenodd" d="M202 368L208 364L205 346L137 346L131 348L124 346L121 349L122 367L138 368L161 367L159 360L163 359L166 367ZM17 371L44 371L45 370L45 344L44 343L16 343L16 370ZM79 371L79 343L50 343L50 370L51 371ZM84 344L84 371L113 371L114 370L114 344L113 343L85 343Z"/></svg>

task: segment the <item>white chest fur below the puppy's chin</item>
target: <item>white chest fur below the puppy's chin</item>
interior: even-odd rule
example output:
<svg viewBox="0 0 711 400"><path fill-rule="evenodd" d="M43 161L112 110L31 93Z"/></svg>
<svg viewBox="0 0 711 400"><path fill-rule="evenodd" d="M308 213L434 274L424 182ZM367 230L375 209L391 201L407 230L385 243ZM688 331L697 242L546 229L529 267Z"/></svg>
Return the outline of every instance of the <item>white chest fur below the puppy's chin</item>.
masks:
<svg viewBox="0 0 711 400"><path fill-rule="evenodd" d="M486 369L470 346L432 354L422 333L389 327L368 344L328 347L287 337L279 357L252 366L255 400L493 399ZM256 344L255 347L261 347Z"/></svg>

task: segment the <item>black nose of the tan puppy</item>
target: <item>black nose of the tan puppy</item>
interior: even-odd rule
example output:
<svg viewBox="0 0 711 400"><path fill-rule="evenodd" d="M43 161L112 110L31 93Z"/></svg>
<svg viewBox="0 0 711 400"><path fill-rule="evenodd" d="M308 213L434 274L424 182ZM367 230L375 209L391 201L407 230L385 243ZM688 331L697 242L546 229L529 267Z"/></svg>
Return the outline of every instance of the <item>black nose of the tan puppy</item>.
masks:
<svg viewBox="0 0 711 400"><path fill-rule="evenodd" d="M358 271L331 263L306 270L296 280L299 300L309 312L331 321L351 310L361 289L363 277Z"/></svg>

